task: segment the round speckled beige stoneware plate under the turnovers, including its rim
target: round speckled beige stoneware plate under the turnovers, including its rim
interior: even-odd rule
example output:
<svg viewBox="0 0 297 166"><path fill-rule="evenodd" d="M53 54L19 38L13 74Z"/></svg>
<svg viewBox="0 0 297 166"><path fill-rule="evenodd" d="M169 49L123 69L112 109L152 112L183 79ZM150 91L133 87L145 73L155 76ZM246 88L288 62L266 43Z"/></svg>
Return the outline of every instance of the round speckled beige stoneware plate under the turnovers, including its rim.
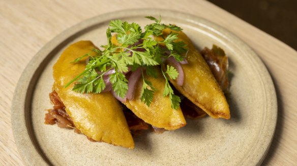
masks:
<svg viewBox="0 0 297 166"><path fill-rule="evenodd" d="M78 40L106 44L110 20L141 26L162 16L164 23L184 29L197 49L222 47L230 59L231 119L209 116L187 119L187 126L163 134L147 132L130 150L91 142L73 130L44 125L52 66L62 51ZM199 17L164 10L129 10L101 15L75 25L51 40L24 70L12 106L15 142L28 165L258 165L273 138L277 100L272 79L255 52L222 27Z"/></svg>

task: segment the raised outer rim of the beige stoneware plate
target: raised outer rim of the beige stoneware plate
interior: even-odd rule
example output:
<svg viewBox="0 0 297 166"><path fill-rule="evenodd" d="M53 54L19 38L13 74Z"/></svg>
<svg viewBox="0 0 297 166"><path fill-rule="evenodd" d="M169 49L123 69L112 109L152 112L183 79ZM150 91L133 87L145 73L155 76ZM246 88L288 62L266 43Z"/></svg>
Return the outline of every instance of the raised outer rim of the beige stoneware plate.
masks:
<svg viewBox="0 0 297 166"><path fill-rule="evenodd" d="M37 84L37 81L39 77L38 70L44 70L43 64L46 63L47 59L51 59L52 57L49 56L52 52L55 52L57 50L60 50L58 48L64 46L65 44L69 43L68 41L71 40L77 33L80 33L84 31L85 29L92 28L99 23L103 23L105 21L109 21L111 19L114 19L115 16L120 16L120 18L123 16L125 17L133 17L139 15L139 12L142 13L150 13L150 14L166 14L167 16L169 14L175 15L175 17L184 17L187 20L198 20L196 22L199 22L206 26L206 28L212 28L212 31L217 33L220 36L224 37L224 34L228 35L228 38L232 38L233 41L240 42L240 44L244 47L245 50L249 51L251 53L251 56L253 60L257 62L257 65L262 69L261 72L264 72L268 80L266 80L269 84L265 85L266 88L270 89L270 107L273 109L272 114L270 116L270 120L272 122L268 125L266 125L266 128L269 128L269 131L267 134L265 134L266 139L264 139L264 136L261 136L261 139L258 139L256 144L263 144L265 148L259 148L257 146L253 147L253 149L257 148L258 151L260 151L259 155L253 156L253 160L249 161L249 165L259 165L264 160L266 154L269 151L269 147L271 145L275 129L276 129L276 122L277 122L277 97L276 97L276 91L275 87L271 78L270 73L268 72L268 69L265 67L264 63L261 61L261 59L258 57L258 55L239 37L237 37L232 32L226 30L225 28L221 27L220 25L217 25L209 20L206 20L204 18L191 15L188 13L183 13L179 11L174 10L163 10L163 9L130 9L130 10L122 10L122 11L114 11L110 13L105 13L102 15L98 15L95 17L92 17L90 19L83 20L79 22L78 24L67 28L60 34L58 34L56 37L51 39L41 50L32 58L31 61L27 64L25 69L23 70L16 89L14 91L13 100L12 100L12 107L11 107L11 122L12 122L12 130L13 130L13 136L14 141L17 145L18 151L20 152L20 156L22 157L23 161L27 165L48 165L50 164L50 161L47 159L47 157L40 152L40 149L38 145L38 142L34 138L34 131L33 129L29 129L32 127L31 123L31 117L29 117L28 114L26 114L26 109L30 109L32 103L30 102L31 98L33 97L33 92L35 91L35 85ZM100 18L100 21L98 22ZM217 30L219 29L219 31ZM56 45L58 44L58 45ZM41 72L42 73L42 72ZM267 96L267 95L266 95ZM266 120L267 121L267 120ZM24 125L25 124L25 125ZM20 132L25 132L23 135L18 135ZM269 138L269 139L267 139ZM265 142L259 142L264 139ZM29 153L28 153L29 151ZM250 157L250 156L248 156Z"/></svg>

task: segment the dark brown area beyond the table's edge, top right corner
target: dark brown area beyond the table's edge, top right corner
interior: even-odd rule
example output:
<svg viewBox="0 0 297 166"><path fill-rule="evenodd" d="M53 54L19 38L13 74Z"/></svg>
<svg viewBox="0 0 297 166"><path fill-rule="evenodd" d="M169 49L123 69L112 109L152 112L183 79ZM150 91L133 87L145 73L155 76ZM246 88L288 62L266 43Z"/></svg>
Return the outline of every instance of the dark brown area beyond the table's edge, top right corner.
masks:
<svg viewBox="0 0 297 166"><path fill-rule="evenodd" d="M297 0L208 0L297 50Z"/></svg>

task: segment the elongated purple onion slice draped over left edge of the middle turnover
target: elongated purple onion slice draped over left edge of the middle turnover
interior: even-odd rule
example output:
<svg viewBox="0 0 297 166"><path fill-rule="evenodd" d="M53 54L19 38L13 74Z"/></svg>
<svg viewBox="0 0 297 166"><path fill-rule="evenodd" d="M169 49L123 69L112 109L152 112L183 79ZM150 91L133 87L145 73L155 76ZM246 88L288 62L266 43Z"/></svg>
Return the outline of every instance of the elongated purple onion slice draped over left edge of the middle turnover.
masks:
<svg viewBox="0 0 297 166"><path fill-rule="evenodd" d="M139 67L135 71L133 71L128 80L128 92L126 94L126 98L128 100L132 100L134 98L134 91L136 89L136 83L141 76L141 68Z"/></svg>

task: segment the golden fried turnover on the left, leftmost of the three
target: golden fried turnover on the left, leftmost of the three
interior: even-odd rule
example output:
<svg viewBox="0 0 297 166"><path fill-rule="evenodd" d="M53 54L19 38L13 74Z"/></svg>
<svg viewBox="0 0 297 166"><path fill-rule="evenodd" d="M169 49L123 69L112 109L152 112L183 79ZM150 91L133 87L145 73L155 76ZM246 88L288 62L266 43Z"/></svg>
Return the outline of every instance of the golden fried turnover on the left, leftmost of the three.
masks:
<svg viewBox="0 0 297 166"><path fill-rule="evenodd" d="M75 127L87 137L113 145L134 148L134 142L120 103L110 92L77 93L64 85L85 68L85 62L70 63L95 46L78 41L69 46L53 66L53 90L65 105Z"/></svg>

